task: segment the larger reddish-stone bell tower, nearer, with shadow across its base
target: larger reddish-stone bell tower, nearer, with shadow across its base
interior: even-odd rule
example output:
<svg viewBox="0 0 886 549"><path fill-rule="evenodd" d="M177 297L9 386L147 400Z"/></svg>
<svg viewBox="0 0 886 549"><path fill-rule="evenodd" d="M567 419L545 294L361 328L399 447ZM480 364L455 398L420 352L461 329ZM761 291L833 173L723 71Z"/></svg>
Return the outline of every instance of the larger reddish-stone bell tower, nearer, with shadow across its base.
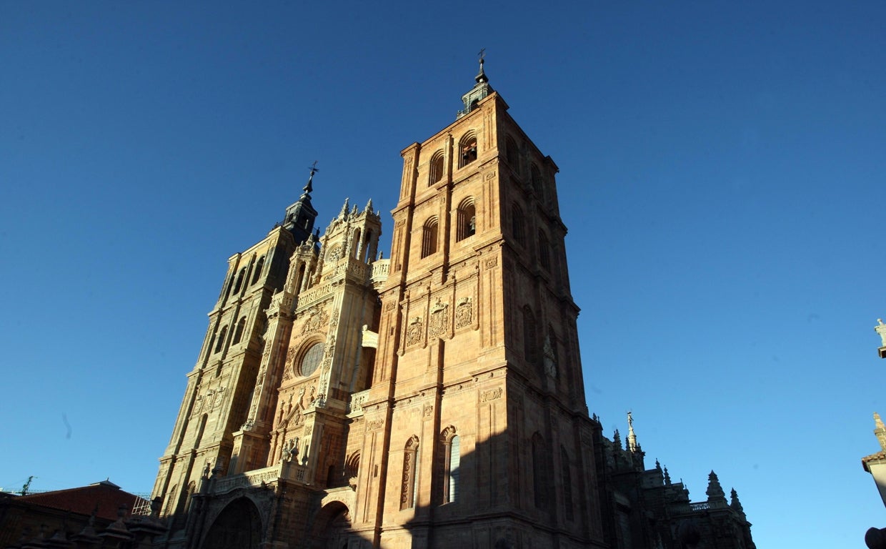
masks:
<svg viewBox="0 0 886 549"><path fill-rule="evenodd" d="M490 87L403 152L352 528L382 547L602 543L556 164Z"/></svg>

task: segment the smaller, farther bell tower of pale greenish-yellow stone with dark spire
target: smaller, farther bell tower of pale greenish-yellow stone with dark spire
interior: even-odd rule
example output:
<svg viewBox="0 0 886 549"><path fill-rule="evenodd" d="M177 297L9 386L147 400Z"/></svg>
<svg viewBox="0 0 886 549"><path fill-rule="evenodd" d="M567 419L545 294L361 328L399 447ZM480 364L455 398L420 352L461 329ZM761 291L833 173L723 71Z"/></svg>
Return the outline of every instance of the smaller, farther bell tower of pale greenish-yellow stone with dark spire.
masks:
<svg viewBox="0 0 886 549"><path fill-rule="evenodd" d="M267 314L272 298L284 287L290 256L314 230L312 180L299 200L260 242L228 260L221 294L209 311L209 327L197 365L175 420L167 450L160 458L152 495L163 498L164 516L172 516L169 536L185 527L190 500L210 471L242 470L250 460L264 459L266 449L251 441L264 436L269 417L256 415L251 404L266 398L256 384L268 371ZM273 343L273 342L271 342Z"/></svg>

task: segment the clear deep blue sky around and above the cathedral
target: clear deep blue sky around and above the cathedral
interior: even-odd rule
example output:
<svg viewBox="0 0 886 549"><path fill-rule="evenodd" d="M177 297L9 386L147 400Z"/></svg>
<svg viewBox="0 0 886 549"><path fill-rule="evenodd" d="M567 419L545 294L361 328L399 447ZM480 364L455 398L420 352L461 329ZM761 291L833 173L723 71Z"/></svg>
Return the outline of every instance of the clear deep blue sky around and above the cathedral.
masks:
<svg viewBox="0 0 886 549"><path fill-rule="evenodd" d="M633 411L693 501L714 469L761 549L863 547L884 28L882 2L0 2L0 486L150 491L229 255L313 161L319 226L390 211L486 48L561 170L590 412Z"/></svg>

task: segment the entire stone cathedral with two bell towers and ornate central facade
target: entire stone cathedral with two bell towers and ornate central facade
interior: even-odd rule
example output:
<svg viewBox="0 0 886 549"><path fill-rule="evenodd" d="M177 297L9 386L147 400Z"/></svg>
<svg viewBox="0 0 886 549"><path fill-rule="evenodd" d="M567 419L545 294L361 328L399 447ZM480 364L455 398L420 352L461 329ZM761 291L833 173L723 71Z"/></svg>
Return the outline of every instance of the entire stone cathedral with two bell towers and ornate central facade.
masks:
<svg viewBox="0 0 886 549"><path fill-rule="evenodd" d="M482 59L475 81L401 153L390 257L371 200L315 227L311 169L229 258L159 460L155 546L754 547L716 474L691 503L646 469L633 419L623 445L588 415L558 169Z"/></svg>

